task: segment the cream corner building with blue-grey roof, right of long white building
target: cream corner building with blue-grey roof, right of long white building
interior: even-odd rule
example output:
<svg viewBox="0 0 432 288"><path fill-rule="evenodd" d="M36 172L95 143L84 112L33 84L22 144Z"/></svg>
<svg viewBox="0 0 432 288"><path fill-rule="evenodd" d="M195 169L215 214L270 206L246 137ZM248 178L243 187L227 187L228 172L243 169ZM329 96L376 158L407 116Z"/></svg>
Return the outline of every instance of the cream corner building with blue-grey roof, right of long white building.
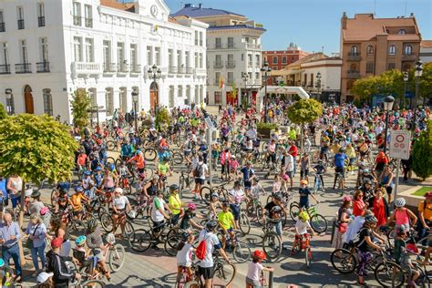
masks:
<svg viewBox="0 0 432 288"><path fill-rule="evenodd" d="M256 93L262 85L261 36L265 29L261 24L249 20L244 15L221 9L203 8L202 5L186 4L173 16L188 16L209 25L207 29L208 104L241 103L246 91L248 98L256 98ZM221 80L225 84L223 88L220 85ZM231 97L234 83L239 96L235 99Z"/></svg>

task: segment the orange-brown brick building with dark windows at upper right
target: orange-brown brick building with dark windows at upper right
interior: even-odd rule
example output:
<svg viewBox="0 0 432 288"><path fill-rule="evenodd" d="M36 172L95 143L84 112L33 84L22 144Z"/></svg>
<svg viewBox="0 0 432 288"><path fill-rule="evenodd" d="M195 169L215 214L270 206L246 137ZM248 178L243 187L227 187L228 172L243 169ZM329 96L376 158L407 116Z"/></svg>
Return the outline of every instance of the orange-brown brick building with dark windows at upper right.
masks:
<svg viewBox="0 0 432 288"><path fill-rule="evenodd" d="M341 20L342 99L352 100L356 79L386 70L409 70L419 57L421 36L414 15L375 18L356 14Z"/></svg>

